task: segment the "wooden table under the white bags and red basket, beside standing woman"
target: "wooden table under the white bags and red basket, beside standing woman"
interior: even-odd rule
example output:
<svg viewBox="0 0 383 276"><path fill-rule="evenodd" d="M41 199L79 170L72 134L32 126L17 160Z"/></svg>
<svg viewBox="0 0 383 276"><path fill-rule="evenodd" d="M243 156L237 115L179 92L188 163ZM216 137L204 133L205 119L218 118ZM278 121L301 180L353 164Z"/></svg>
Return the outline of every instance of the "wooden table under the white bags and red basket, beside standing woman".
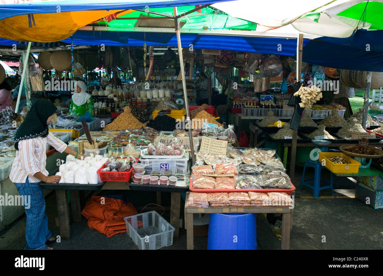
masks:
<svg viewBox="0 0 383 276"><path fill-rule="evenodd" d="M53 173L53 175L56 172ZM137 188L130 188L126 182L118 181L107 181L98 185L73 185L71 186L60 186L59 183L41 183L44 189L50 189L56 191L57 200L57 213L59 218L60 236L66 240L70 240L70 217L69 217L69 205L68 205L68 193L70 193L70 206L72 210L72 220L74 223L81 223L81 198L80 191L94 191L100 192L104 190L138 190ZM141 185L143 186L143 185ZM142 188L147 188L143 186ZM158 191L161 188L152 188L150 191ZM186 187L185 189L188 189ZM161 189L160 191L165 191ZM179 227L180 227L180 207L181 207L181 193L184 190L180 189L178 192L174 192L171 188L168 192L171 192L171 206L170 206L170 224L175 228L174 237L178 238Z"/></svg>

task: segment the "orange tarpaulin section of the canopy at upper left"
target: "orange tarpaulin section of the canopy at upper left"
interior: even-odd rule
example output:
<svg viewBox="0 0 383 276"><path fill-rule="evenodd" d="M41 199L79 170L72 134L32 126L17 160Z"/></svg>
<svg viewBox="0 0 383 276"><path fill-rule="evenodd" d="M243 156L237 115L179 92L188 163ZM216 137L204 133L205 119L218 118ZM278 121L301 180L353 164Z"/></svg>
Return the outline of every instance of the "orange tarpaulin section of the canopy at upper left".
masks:
<svg viewBox="0 0 383 276"><path fill-rule="evenodd" d="M77 29L122 10L70 11L17 15L0 20L0 38L16 41L52 42L69 38ZM118 16L133 12L126 10Z"/></svg>

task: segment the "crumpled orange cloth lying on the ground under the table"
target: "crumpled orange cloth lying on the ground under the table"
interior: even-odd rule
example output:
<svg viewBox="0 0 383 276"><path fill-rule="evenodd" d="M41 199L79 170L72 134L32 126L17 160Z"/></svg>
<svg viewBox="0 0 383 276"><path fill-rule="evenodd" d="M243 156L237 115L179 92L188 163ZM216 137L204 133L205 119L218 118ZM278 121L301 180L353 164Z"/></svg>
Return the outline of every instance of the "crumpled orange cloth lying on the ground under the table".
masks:
<svg viewBox="0 0 383 276"><path fill-rule="evenodd" d="M101 198L105 198L105 204L101 204ZM90 228L111 237L126 232L124 217L133 216L137 211L131 203L123 204L121 199L92 196L81 214L88 219Z"/></svg>

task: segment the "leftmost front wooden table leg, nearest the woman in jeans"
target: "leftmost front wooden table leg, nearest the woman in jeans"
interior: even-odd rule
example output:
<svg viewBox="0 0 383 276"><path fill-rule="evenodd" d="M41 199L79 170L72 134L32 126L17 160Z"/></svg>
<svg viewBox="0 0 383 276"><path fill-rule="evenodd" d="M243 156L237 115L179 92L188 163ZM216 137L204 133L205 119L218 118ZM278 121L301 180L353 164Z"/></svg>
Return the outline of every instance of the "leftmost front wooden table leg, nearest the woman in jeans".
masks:
<svg viewBox="0 0 383 276"><path fill-rule="evenodd" d="M57 212L59 214L60 236L70 240L68 193L64 190L56 190Z"/></svg>

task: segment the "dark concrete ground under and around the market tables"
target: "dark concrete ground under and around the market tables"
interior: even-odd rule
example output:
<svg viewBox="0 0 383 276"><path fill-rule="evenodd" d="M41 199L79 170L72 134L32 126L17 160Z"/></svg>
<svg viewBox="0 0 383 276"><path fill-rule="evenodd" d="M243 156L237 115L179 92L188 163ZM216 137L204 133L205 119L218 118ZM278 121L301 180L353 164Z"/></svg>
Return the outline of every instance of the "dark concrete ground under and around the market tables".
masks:
<svg viewBox="0 0 383 276"><path fill-rule="evenodd" d="M309 175L313 168L307 169ZM306 171L307 171L306 170ZM301 169L297 167L296 177L292 180L296 186L293 228L290 235L290 247L299 249L383 249L383 209L373 209L355 199L355 182L352 178L334 176L334 194L330 190L321 191L319 198L313 198L312 190L304 187L299 190ZM329 180L329 172L322 171L322 179ZM156 203L155 192L107 191L104 194L124 194L129 202L141 211L149 203ZM46 197L46 209L49 229L59 234L56 227L56 196ZM170 193L162 193L162 205L170 206ZM144 211L149 211L150 206ZM183 208L181 208L183 212ZM159 213L161 213L159 211ZM183 214L181 215L183 218ZM170 221L169 208L163 217ZM23 249L25 246L26 216L0 232L0 249ZM268 223L265 214L257 214L257 249L280 249L282 221L275 225ZM55 249L138 249L126 233L110 238L90 229L83 217L81 224L71 224L71 240L62 240L54 244ZM195 237L195 249L207 249L207 237ZM180 229L178 239L164 250L186 249L186 231Z"/></svg>

